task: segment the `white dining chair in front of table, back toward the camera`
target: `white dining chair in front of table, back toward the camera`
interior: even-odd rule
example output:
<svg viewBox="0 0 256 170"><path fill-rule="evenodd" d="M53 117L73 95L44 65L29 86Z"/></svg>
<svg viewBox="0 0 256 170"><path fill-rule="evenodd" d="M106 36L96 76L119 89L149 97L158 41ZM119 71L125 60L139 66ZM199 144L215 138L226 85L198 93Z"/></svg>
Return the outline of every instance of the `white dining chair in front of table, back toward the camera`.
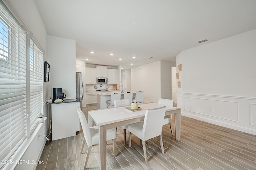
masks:
<svg viewBox="0 0 256 170"><path fill-rule="evenodd" d="M144 122L138 122L130 124L128 127L129 130L129 148L131 147L132 134L136 135L142 140L143 152L145 162L148 162L147 151L146 151L146 140L159 137L159 142L161 146L162 153L164 154L164 145L162 140L162 128L163 120L166 111L166 106L154 109L146 110Z"/></svg>

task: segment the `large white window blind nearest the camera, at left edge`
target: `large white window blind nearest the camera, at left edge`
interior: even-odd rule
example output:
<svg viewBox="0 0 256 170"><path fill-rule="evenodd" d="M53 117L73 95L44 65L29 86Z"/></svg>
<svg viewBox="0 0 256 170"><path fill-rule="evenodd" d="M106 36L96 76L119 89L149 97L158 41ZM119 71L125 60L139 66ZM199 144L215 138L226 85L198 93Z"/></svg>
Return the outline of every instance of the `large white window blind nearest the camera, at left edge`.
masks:
<svg viewBox="0 0 256 170"><path fill-rule="evenodd" d="M8 160L25 139L26 32L1 3L0 160Z"/></svg>

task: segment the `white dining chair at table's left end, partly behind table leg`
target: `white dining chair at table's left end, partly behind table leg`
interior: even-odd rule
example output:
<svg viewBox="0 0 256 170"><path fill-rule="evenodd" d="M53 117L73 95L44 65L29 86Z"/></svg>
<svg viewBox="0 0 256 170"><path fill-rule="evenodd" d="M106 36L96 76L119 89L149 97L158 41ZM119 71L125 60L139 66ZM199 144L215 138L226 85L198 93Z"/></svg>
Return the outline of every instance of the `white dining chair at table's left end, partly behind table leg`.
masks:
<svg viewBox="0 0 256 170"><path fill-rule="evenodd" d="M100 143L99 128L98 128L98 126L89 127L86 117L85 117L84 113L82 112L82 110L80 109L80 107L78 107L76 110L77 110L78 117L81 122L83 133L84 133L84 138L83 138L80 154L82 154L82 152L83 152L85 142L88 146L87 154L86 154L86 158L85 158L85 164L84 164L84 169L86 169L92 146ZM113 143L114 157L116 157L116 132L113 129L108 129L107 130L107 140L111 140L111 139L112 139L112 143Z"/></svg>

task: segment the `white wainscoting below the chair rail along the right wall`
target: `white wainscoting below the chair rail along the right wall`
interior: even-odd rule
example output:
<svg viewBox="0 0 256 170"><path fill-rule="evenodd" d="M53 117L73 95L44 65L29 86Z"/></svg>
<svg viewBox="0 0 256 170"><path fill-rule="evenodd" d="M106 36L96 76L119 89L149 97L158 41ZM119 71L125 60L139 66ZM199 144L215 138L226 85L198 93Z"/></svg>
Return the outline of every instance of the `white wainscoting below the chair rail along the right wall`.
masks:
<svg viewBox="0 0 256 170"><path fill-rule="evenodd" d="M182 116L256 135L256 98L177 92L177 107Z"/></svg>

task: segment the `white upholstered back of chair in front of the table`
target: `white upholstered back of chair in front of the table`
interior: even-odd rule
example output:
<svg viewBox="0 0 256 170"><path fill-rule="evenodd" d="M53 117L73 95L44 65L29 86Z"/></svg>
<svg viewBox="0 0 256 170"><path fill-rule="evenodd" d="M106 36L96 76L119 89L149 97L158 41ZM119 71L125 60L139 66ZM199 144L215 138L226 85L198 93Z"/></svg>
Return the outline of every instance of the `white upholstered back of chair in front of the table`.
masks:
<svg viewBox="0 0 256 170"><path fill-rule="evenodd" d="M143 141L162 135L165 111L166 106L146 110L141 138Z"/></svg>

